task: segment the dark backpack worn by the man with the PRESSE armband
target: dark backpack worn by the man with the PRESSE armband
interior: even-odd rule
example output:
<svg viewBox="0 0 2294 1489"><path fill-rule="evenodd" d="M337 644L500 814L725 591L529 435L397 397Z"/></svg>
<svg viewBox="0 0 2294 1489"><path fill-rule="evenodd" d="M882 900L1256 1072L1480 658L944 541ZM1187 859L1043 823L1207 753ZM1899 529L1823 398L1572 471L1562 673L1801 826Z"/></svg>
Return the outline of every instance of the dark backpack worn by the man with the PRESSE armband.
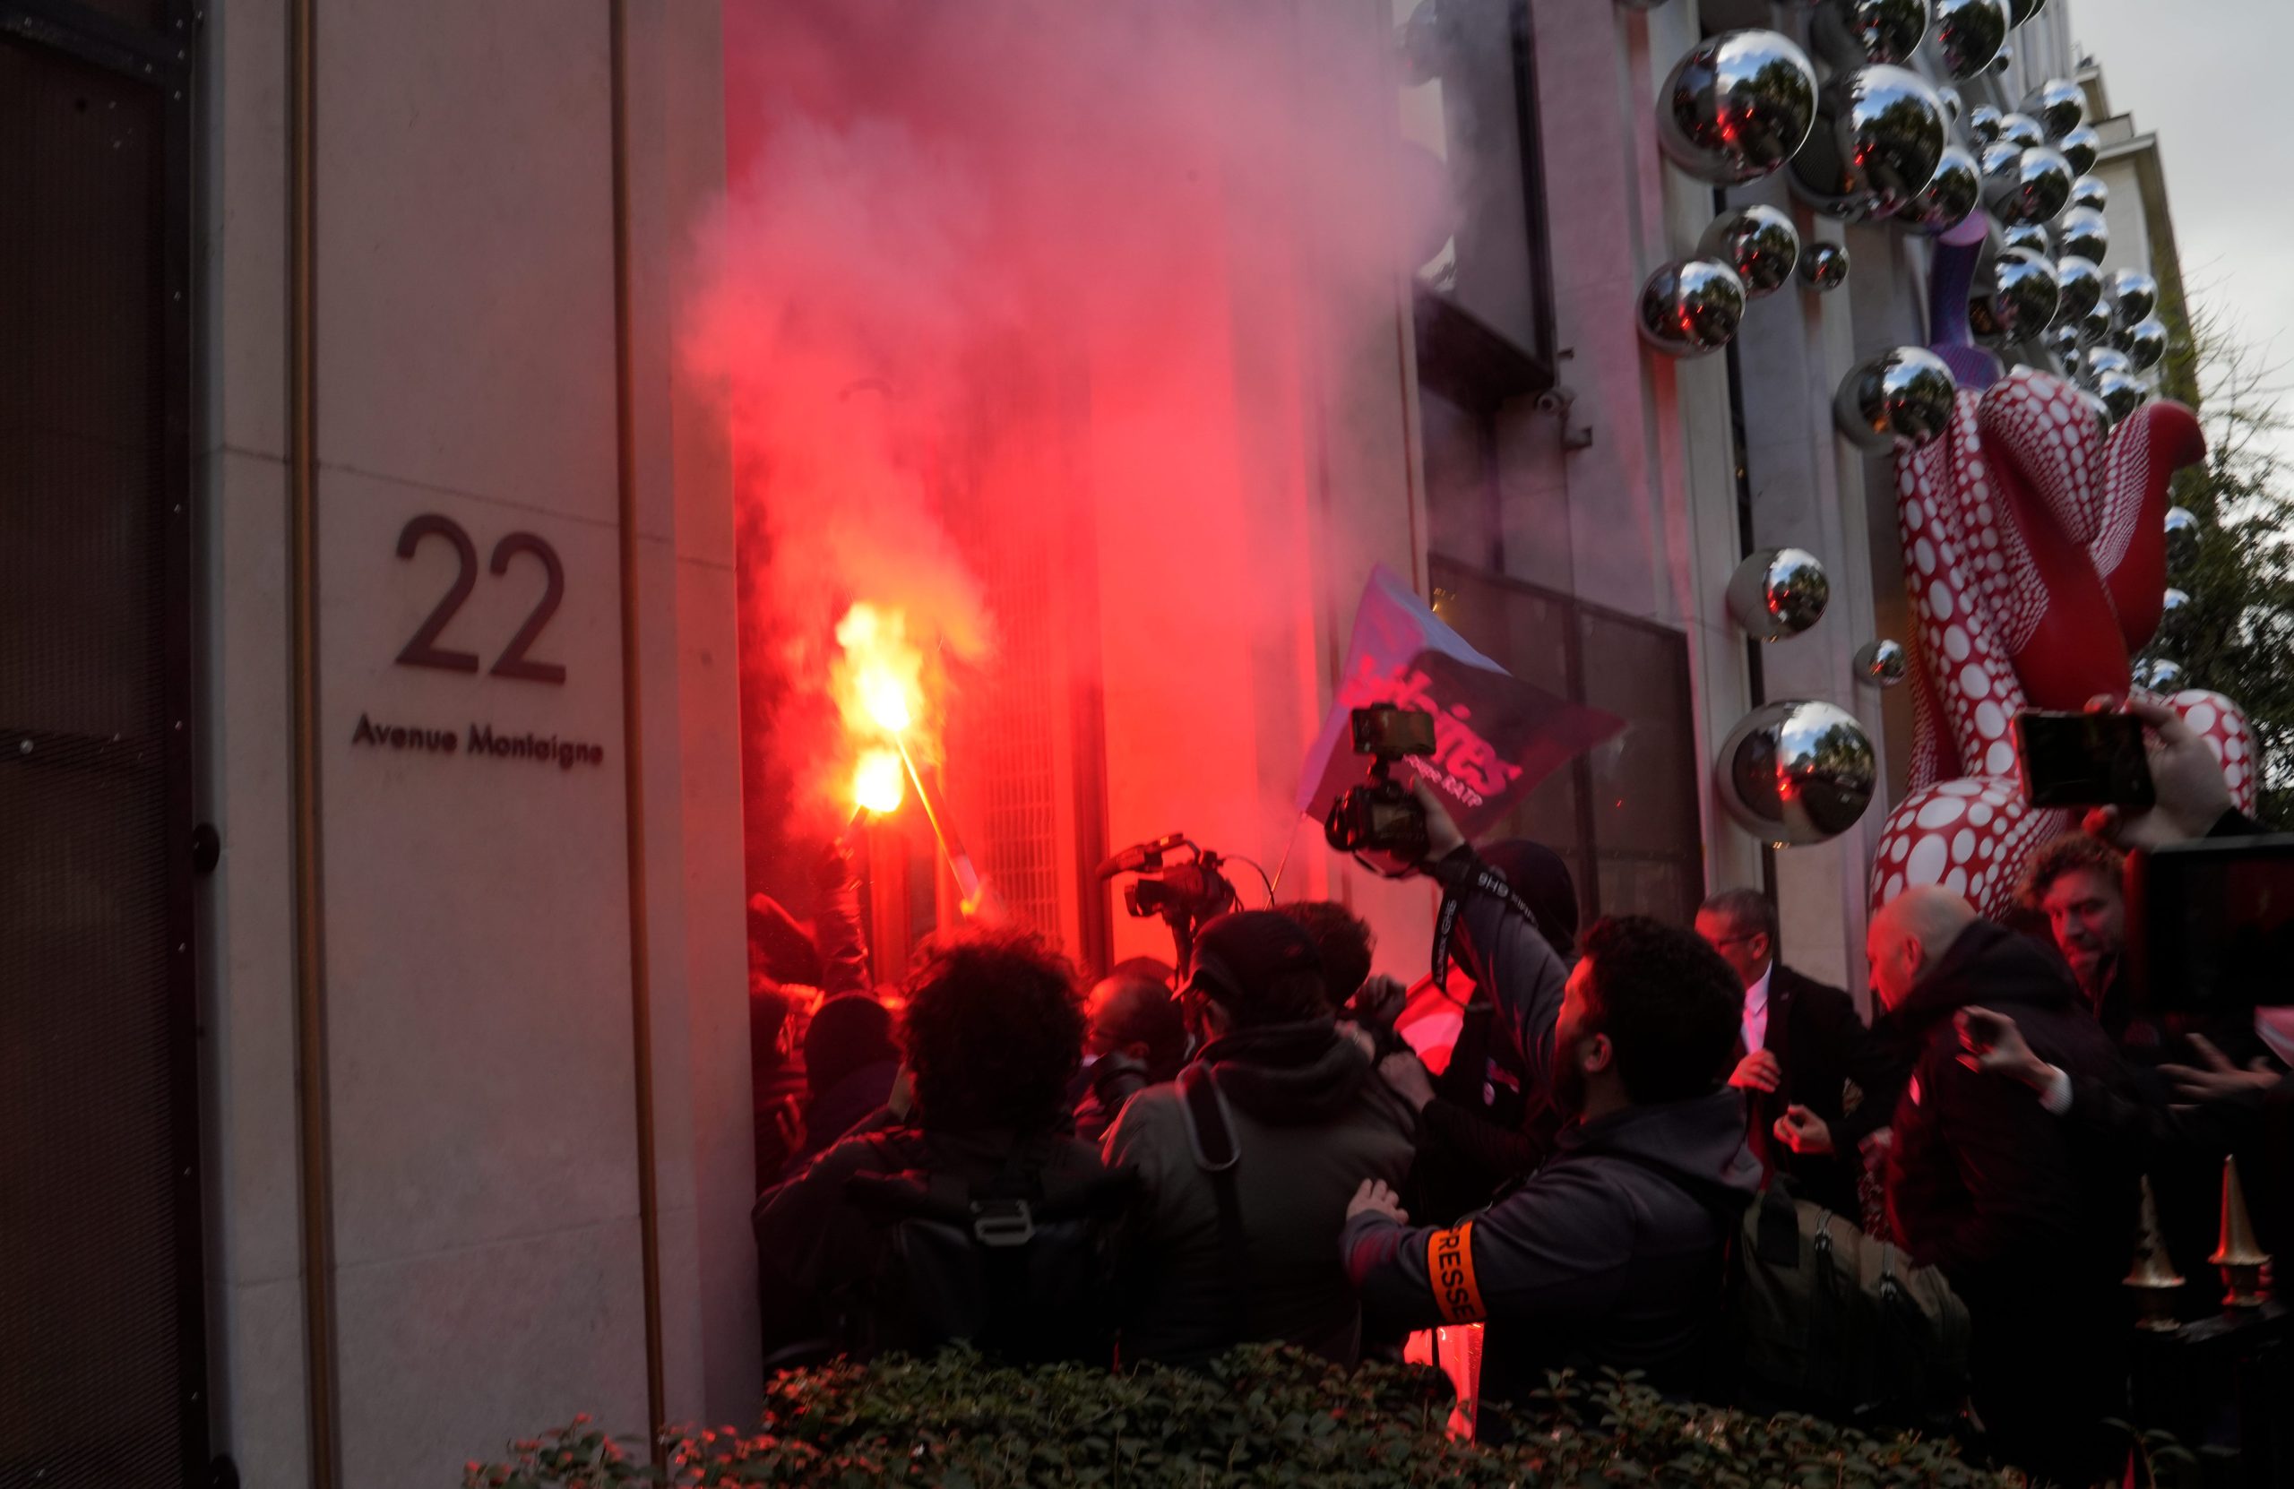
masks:
<svg viewBox="0 0 2294 1489"><path fill-rule="evenodd" d="M1934 1266L1771 1184L1734 1234L1727 1324L1753 1411L1950 1427L1968 1393L1968 1308Z"/></svg>

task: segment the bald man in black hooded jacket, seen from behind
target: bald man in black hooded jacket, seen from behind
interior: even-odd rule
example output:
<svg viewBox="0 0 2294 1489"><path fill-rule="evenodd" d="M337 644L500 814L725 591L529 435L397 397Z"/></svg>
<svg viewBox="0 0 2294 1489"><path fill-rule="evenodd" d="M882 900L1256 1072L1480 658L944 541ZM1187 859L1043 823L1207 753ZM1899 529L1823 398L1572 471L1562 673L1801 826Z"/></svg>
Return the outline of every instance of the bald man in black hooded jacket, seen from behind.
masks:
<svg viewBox="0 0 2294 1489"><path fill-rule="evenodd" d="M1865 952L1874 996L1915 1051L1895 1108L1888 1218L1968 1305L1975 1409L1993 1455L2062 1484L2108 1478L2104 1418L2127 1400L2120 1278L2138 1175L2115 1152L2067 1140L2012 1083L1964 1065L1952 1014L2010 1014L2049 1065L2131 1097L2127 1067L2065 966L1950 890L1904 890L1872 918Z"/></svg>

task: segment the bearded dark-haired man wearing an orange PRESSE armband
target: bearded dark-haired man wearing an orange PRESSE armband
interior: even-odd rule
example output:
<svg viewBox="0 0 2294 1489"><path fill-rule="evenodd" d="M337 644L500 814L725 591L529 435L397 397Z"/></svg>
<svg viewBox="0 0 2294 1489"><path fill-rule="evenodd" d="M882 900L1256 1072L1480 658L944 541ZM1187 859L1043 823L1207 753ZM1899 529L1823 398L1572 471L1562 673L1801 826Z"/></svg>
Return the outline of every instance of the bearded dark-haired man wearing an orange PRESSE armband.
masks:
<svg viewBox="0 0 2294 1489"><path fill-rule="evenodd" d="M1571 1122L1519 1188L1454 1227L1411 1230L1365 1179L1340 1241L1390 1328L1489 1322L1482 1397L1551 1370L1638 1370L1707 1393L1727 1241L1759 1188L1725 1085L1743 984L1698 936L1626 915L1585 931L1551 1037Z"/></svg>

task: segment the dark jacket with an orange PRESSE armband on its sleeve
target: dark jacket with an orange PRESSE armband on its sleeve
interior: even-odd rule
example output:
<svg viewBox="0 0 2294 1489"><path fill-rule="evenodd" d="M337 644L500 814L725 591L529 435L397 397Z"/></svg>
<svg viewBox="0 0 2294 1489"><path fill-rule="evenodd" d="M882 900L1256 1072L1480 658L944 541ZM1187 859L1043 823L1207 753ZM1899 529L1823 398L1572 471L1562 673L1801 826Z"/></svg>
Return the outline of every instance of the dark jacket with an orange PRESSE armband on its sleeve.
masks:
<svg viewBox="0 0 2294 1489"><path fill-rule="evenodd" d="M1743 1101L1718 1090L1562 1129L1544 1168L1454 1230L1363 1214L1342 1246L1379 1324L1489 1319L1484 1400L1521 1400L1560 1367L1693 1390L1725 1246L1757 1191Z"/></svg>

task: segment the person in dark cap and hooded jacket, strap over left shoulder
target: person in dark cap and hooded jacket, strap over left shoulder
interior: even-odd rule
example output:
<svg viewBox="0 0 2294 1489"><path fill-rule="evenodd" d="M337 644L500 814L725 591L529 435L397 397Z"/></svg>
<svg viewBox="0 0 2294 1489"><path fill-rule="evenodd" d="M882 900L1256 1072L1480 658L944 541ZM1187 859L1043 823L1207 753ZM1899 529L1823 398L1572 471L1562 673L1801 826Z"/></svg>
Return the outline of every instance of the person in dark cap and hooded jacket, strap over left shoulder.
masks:
<svg viewBox="0 0 2294 1489"><path fill-rule="evenodd" d="M1278 911L1202 927L1181 998L1202 1053L1106 1138L1108 1168L1140 1177L1122 1358L1200 1365L1282 1340L1351 1363L1363 1315L1337 1232L1363 1175L1402 1182L1411 1108L1340 1032L1312 936Z"/></svg>

